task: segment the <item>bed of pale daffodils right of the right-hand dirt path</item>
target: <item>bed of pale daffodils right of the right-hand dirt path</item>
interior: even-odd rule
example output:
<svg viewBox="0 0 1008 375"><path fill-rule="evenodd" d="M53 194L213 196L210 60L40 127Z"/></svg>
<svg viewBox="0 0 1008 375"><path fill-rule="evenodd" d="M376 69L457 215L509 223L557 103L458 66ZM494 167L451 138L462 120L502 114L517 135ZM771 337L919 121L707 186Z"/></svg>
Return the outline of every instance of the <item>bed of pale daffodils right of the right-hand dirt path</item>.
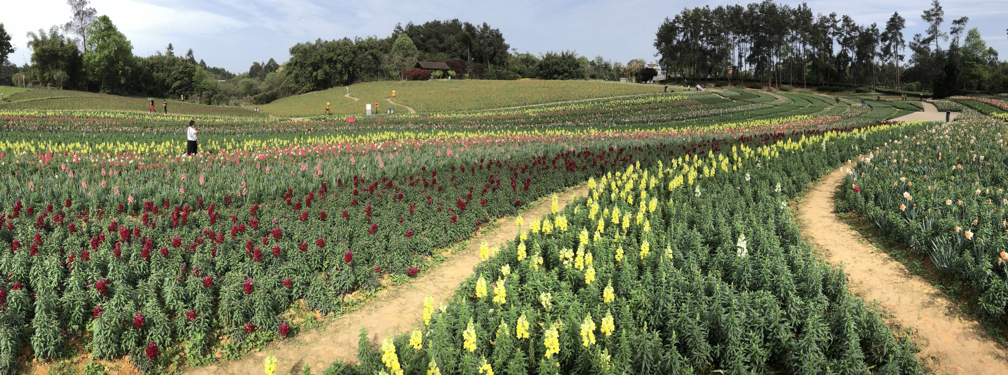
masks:
<svg viewBox="0 0 1008 375"><path fill-rule="evenodd" d="M955 123L865 150L844 186L846 206L961 280L982 313L1008 308L1004 124L967 110Z"/></svg>

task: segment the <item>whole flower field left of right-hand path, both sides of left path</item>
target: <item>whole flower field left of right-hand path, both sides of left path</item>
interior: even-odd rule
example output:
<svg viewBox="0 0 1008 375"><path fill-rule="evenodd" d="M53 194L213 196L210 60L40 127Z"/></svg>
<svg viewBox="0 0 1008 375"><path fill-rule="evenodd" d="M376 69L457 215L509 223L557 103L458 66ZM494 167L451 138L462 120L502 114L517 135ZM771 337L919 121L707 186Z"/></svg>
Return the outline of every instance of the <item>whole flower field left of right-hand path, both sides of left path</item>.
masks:
<svg viewBox="0 0 1008 375"><path fill-rule="evenodd" d="M409 373L431 360L448 372L912 373L912 346L797 241L781 207L922 126L843 99L746 93L459 112L430 126L207 117L194 157L178 156L186 117L0 112L0 371L78 344L146 372L237 356L296 334L293 307L344 312L345 296L415 275L493 219L594 181L576 210L529 219L524 255L487 248L457 301L430 307L431 331L411 335L423 350L398 339L385 351ZM517 327L524 341L508 336ZM669 346L679 355L657 350ZM379 357L362 352L354 371L395 372Z"/></svg>

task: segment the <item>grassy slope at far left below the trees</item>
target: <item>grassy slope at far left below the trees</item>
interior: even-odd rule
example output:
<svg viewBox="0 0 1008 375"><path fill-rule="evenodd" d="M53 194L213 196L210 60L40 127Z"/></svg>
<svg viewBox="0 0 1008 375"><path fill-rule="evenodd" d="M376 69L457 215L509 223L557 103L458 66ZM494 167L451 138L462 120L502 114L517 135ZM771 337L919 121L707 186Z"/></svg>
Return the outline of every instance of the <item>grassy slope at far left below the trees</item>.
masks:
<svg viewBox="0 0 1008 375"><path fill-rule="evenodd" d="M0 86L0 92L7 88L18 89L10 95L10 102L0 102L4 110L90 110L90 111L132 111L148 112L150 101L146 98L129 98L77 91L70 89L21 88ZM8 99L6 92L4 99ZM163 112L163 99L154 99L154 110ZM255 113L241 107L206 106L178 101L168 101L168 113L173 115L229 116L229 117L267 117L263 113Z"/></svg>

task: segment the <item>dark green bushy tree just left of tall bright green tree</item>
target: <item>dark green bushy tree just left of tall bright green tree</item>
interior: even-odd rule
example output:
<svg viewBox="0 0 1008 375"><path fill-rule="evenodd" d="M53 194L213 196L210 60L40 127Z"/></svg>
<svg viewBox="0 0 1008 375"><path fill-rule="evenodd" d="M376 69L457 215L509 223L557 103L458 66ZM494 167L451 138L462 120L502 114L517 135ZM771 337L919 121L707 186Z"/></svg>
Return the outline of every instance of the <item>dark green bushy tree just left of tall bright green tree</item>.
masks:
<svg viewBox="0 0 1008 375"><path fill-rule="evenodd" d="M73 39L59 33L57 26L48 33L28 33L31 49L31 68L27 75L31 81L59 88L75 87L81 80L81 51Z"/></svg>

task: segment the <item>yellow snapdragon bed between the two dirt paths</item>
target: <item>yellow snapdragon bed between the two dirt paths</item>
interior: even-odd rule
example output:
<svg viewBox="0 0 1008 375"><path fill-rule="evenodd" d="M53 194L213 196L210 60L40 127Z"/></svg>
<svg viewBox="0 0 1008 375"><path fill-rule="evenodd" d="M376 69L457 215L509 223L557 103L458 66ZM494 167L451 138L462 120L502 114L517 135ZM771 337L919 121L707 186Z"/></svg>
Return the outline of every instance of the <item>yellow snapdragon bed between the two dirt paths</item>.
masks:
<svg viewBox="0 0 1008 375"><path fill-rule="evenodd" d="M743 143L592 178L486 252L423 326L338 373L919 373L915 347L802 242L788 200L921 125ZM330 371L333 371L331 368Z"/></svg>

